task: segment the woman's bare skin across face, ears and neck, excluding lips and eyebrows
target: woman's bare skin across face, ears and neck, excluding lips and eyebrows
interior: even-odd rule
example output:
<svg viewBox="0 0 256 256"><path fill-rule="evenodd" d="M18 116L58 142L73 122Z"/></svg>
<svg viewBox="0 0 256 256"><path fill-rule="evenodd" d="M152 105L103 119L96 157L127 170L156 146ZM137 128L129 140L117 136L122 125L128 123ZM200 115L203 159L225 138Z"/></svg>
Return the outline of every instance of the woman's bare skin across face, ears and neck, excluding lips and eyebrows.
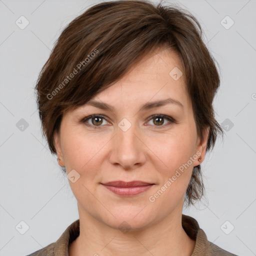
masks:
<svg viewBox="0 0 256 256"><path fill-rule="evenodd" d="M182 71L178 55L160 48L93 98L110 104L113 111L85 104L63 115L60 132L54 134L59 165L67 174L75 169L80 175L74 183L68 180L80 219L80 235L69 245L69 255L191 255L195 241L182 228L181 215L198 158L155 201L149 201L189 157L198 151L202 160L205 156L208 127L200 139L184 77L174 80L169 75L174 67ZM148 101L167 97L183 107L166 104L139 110ZM91 114L105 116L87 120L97 128L81 121ZM170 116L176 123L150 117L156 114ZM123 118L131 124L126 131L118 126ZM129 197L100 184L113 180L154 185ZM130 227L126 233L119 229L123 221Z"/></svg>

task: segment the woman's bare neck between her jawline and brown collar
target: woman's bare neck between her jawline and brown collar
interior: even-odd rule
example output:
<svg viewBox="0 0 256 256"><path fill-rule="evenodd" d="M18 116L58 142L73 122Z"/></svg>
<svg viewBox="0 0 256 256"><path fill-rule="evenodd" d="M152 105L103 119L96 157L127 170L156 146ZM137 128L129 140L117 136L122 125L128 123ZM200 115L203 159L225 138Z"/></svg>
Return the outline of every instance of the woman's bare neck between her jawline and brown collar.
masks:
<svg viewBox="0 0 256 256"><path fill-rule="evenodd" d="M190 256L195 241L182 228L182 209L178 215L174 213L143 229L125 232L79 209L80 234L69 245L69 255Z"/></svg>

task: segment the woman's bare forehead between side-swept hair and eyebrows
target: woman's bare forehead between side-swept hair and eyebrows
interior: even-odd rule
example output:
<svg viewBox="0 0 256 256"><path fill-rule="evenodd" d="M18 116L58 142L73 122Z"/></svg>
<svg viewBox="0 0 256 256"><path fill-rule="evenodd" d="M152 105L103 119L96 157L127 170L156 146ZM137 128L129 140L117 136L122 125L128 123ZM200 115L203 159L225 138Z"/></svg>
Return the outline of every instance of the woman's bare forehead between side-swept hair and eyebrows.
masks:
<svg viewBox="0 0 256 256"><path fill-rule="evenodd" d="M178 54L171 49L159 48L146 55L121 79L91 100L130 108L146 102L171 98L172 101L189 107L183 73ZM176 106L178 105L177 103ZM114 107L111 110L116 109Z"/></svg>

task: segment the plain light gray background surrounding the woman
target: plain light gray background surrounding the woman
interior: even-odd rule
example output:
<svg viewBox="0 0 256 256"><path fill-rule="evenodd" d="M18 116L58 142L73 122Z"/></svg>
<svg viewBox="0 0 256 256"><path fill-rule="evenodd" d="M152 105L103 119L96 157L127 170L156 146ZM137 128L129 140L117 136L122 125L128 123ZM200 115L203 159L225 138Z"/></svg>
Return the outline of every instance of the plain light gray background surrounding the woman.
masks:
<svg viewBox="0 0 256 256"><path fill-rule="evenodd" d="M67 178L42 139L33 87L64 26L97 2L0 0L0 255L40 249L78 218ZM216 119L227 129L202 164L207 200L183 213L218 246L256 255L256 0L169 2L202 25L221 72ZM29 21L24 29L15 23L21 15ZM15 228L21 220L29 226L24 234L22 222Z"/></svg>

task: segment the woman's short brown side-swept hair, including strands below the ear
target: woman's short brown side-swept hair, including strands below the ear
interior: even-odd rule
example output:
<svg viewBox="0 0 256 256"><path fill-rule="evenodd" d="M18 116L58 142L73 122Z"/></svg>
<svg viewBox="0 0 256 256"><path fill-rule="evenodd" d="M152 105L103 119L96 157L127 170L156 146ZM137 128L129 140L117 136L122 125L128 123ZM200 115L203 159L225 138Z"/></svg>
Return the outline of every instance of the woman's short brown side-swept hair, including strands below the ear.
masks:
<svg viewBox="0 0 256 256"><path fill-rule="evenodd" d="M209 126L206 151L217 133L212 101L219 86L215 59L202 41L202 29L188 11L146 0L98 3L72 20L61 32L36 81L37 105L50 151L63 113L85 104L158 48L174 49L181 60L192 102L197 134ZM194 166L185 202L203 195L200 165Z"/></svg>

